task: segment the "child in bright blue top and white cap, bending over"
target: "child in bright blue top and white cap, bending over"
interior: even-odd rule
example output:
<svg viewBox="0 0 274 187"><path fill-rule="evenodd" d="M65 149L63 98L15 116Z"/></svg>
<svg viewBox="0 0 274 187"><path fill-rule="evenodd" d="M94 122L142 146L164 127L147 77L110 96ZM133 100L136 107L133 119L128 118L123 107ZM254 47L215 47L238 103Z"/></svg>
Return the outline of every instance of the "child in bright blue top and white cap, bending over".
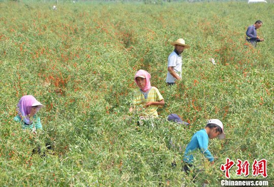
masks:
<svg viewBox="0 0 274 187"><path fill-rule="evenodd" d="M209 139L224 139L224 127L223 123L219 119L210 119L204 129L196 132L189 144L186 147L183 161L184 171L189 174L190 167L193 165L193 154L192 151L199 149L201 153L207 158L211 164L214 164L214 157L209 151Z"/></svg>

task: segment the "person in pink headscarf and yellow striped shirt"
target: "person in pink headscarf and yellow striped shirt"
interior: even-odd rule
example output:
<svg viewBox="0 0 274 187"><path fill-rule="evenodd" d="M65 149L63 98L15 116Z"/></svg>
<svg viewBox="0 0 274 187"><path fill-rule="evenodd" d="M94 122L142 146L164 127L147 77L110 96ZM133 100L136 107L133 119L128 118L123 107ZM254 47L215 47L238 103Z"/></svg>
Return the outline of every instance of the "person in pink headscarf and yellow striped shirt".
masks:
<svg viewBox="0 0 274 187"><path fill-rule="evenodd" d="M139 70L134 77L135 83L140 89L134 92L133 107L130 107L129 112L132 112L135 106L141 106L141 116L158 117L158 106L164 105L164 100L159 90L150 85L150 74L145 70Z"/></svg>

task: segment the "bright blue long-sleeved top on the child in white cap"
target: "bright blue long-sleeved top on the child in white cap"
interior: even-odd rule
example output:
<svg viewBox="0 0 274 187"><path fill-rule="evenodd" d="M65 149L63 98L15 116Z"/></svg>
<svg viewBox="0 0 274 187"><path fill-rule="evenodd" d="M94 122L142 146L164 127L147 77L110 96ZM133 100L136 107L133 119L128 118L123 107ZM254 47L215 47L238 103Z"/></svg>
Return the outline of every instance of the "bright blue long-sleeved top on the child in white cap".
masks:
<svg viewBox="0 0 274 187"><path fill-rule="evenodd" d="M198 132L196 132L189 144L186 147L186 151L184 154L183 161L191 164L193 162L193 155L191 154L192 151L195 149L200 149L201 153L207 158L210 162L214 161L214 158L212 157L209 149L209 135L207 134L207 131L205 129L202 129Z"/></svg>

